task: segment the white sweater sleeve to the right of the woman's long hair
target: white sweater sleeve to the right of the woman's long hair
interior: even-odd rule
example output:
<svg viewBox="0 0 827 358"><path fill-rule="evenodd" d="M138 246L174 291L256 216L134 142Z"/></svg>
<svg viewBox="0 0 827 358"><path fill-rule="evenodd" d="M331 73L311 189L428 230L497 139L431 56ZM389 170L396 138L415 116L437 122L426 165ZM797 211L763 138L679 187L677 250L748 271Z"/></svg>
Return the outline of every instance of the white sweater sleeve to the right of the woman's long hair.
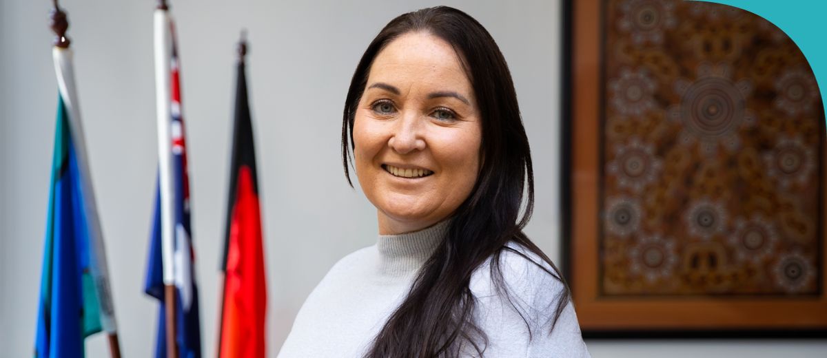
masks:
<svg viewBox="0 0 827 358"><path fill-rule="evenodd" d="M537 255L509 246L528 257L509 250L500 255L508 296L491 281L490 262L471 279L476 322L488 338L483 356L589 358L565 285L546 271L554 272ZM555 319L561 303L562 312Z"/></svg>

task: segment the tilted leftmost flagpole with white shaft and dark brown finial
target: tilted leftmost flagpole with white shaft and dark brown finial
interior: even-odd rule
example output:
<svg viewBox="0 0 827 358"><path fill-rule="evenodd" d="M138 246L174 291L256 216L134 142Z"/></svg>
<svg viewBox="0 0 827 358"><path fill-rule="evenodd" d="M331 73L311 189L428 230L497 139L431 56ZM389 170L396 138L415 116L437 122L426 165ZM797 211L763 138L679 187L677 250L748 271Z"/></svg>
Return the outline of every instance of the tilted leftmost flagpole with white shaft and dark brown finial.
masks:
<svg viewBox="0 0 827 358"><path fill-rule="evenodd" d="M60 97L69 112L69 132L73 137L74 149L77 155L79 171L81 172L81 189L84 198L84 214L88 220L90 250L90 271L95 281L98 304L100 305L100 320L103 331L108 334L109 351L112 358L121 357L121 347L117 338L117 326L115 322L114 304L112 292L109 289L109 272L106 260L106 251L103 246L103 231L98 219L97 204L95 201L91 173L88 169L88 155L84 141L83 123L80 121L80 110L74 84L74 70L72 69L72 51L69 50L69 38L66 37L66 30L69 28L69 21L66 13L60 9L57 0L52 0L50 27L55 32L55 47L52 55L55 60L55 73L58 79Z"/></svg>

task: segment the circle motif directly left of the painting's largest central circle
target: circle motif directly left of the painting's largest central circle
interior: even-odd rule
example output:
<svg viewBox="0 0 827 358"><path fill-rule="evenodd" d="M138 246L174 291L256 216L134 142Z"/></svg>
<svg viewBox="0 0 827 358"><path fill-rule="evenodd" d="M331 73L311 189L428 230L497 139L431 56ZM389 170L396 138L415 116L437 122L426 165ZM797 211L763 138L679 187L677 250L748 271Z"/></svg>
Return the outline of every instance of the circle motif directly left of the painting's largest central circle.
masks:
<svg viewBox="0 0 827 358"><path fill-rule="evenodd" d="M647 69L621 69L620 77L609 81L609 102L622 115L640 117L655 107L656 90L657 82L649 77Z"/></svg>

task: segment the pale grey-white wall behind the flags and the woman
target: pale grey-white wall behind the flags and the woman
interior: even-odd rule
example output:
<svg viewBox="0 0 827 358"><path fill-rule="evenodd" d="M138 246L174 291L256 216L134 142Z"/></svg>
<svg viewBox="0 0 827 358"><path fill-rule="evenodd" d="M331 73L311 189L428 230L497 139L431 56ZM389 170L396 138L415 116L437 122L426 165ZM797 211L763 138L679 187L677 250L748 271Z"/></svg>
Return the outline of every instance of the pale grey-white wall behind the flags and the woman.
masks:
<svg viewBox="0 0 827 358"><path fill-rule="evenodd" d="M0 0L0 346L34 340L55 74L47 1ZM122 349L150 356L155 303L142 294L155 190L154 1L63 0L75 51L93 183ZM528 234L559 258L557 2L450 1L492 33L509 61L533 147L537 208ZM226 206L233 65L249 30L248 79L260 161L270 356L323 274L375 241L375 209L342 178L342 103L368 42L395 15L436 2L170 0L177 17L205 356L214 356ZM354 177L354 180L356 178ZM595 357L824 356L821 341L589 341ZM107 356L103 337L89 356Z"/></svg>

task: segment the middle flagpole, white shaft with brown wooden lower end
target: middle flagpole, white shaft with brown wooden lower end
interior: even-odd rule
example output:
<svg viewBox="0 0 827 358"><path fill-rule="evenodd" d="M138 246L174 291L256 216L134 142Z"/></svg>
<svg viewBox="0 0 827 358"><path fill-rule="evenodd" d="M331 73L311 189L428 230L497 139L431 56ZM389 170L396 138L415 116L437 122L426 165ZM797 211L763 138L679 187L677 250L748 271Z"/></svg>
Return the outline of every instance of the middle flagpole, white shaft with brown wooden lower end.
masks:
<svg viewBox="0 0 827 358"><path fill-rule="evenodd" d="M160 184L161 251L164 266L166 356L178 357L174 279L174 185L172 180L172 137L170 135L172 38L169 7L159 0L155 7L155 103L158 121L158 171Z"/></svg>

